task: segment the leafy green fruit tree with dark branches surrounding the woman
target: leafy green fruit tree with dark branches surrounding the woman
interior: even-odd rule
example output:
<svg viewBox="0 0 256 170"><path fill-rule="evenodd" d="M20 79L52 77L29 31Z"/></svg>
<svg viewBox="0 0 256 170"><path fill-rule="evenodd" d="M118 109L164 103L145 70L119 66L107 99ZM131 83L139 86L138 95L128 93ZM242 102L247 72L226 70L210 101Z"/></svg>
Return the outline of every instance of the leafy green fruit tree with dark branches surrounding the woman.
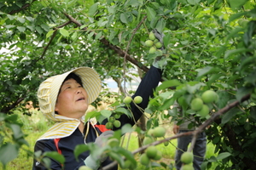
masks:
<svg viewBox="0 0 256 170"><path fill-rule="evenodd" d="M1 130L6 126L13 133L11 136L1 133L0 161L6 165L17 156L20 146L27 144L13 111L22 110L29 100L37 105L36 91L46 77L90 66L102 80L112 77L124 89L121 92L129 95L125 82L131 81L132 73L127 73L135 67L148 71L153 60L162 55L160 64L167 63L162 84L146 110L150 114L146 130L137 128L137 133L151 138L150 130L160 126L159 118L176 120L177 111L170 109L175 101L183 109L182 120L195 116L195 120L204 123L192 133L151 140L133 152L117 147L109 151L109 156L121 167L127 161L136 166L133 154L182 135L193 134L196 138L210 126L207 138L216 145L218 156L205 160L202 169L211 167L213 161L218 162L217 169L253 169L256 166L255 5L254 0L1 2L0 121L4 125ZM165 47L163 54L148 47L152 45L147 40L154 29L165 35L161 44L155 42L155 46ZM203 97L208 90L215 93L213 97ZM103 91L102 95L111 94ZM117 103L111 106L113 111L129 114L119 107L127 105L122 104L123 98L123 94L117 95ZM192 102L196 98L202 102ZM101 97L94 105L100 100ZM163 114L164 111L168 114ZM101 120L102 116L112 115L111 111L100 111L89 113L86 118L96 116ZM125 127L122 133L133 130ZM3 140L6 137L14 143ZM78 147L78 150L93 149L93 146ZM189 151L192 148L193 142ZM10 151L14 154L4 157ZM143 155L143 164L147 166L158 159L147 158Z"/></svg>

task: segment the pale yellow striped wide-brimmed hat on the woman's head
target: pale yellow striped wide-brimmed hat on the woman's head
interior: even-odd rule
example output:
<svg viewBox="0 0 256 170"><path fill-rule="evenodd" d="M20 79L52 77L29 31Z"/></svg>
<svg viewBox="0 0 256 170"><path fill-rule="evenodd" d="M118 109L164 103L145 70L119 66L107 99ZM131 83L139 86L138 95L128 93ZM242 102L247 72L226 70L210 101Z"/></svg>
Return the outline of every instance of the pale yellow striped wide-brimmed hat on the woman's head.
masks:
<svg viewBox="0 0 256 170"><path fill-rule="evenodd" d="M38 88L38 102L40 111L43 112L44 116L53 121L58 121L58 118L55 117L55 104L61 84L71 72L81 78L83 87L88 94L89 104L91 104L101 92L101 79L98 73L90 67L79 67L73 71L67 71L61 75L47 78Z"/></svg>

